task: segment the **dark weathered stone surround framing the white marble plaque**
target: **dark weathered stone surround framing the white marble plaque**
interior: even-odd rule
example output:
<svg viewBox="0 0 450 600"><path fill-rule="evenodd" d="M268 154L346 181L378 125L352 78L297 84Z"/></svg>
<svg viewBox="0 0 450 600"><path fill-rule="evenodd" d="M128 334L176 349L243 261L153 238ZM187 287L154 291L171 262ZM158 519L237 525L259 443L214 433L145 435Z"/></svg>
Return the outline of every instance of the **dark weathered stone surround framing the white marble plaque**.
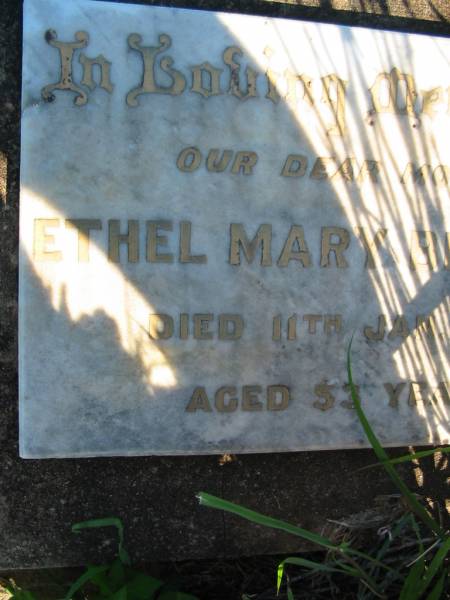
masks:
<svg viewBox="0 0 450 600"><path fill-rule="evenodd" d="M151 4L151 2L146 2ZM218 9L266 16L328 21L448 36L448 5L437 1L392 1L388 6L355 7L343 0L333 7L319 2L171 2L178 7ZM314 5L314 6L313 6ZM229 515L197 506L199 489L323 530L328 518L373 507L374 497L393 491L372 464L370 450L287 452L239 455L221 466L217 457L134 457L21 460L17 428L17 262L20 157L21 6L5 2L0 41L5 60L0 73L2 151L7 172L0 203L1 319L0 382L2 445L0 472L1 567L31 568L85 564L106 559L105 536L73 536L72 523L93 516L118 515L125 522L133 560L205 558L258 552L292 552L298 540L274 535ZM419 449L419 447L415 447ZM392 450L405 453L406 448ZM409 485L432 493L445 506L445 457L426 459L418 469L400 467ZM320 473L320 476L318 476ZM89 484L87 485L87 482ZM276 498L268 489L276 489ZM170 497L170 503L162 502ZM132 498L132 502L130 502ZM349 503L349 498L352 503ZM444 510L445 512L445 510ZM174 519L176 527L174 527ZM151 543L149 534L151 532ZM111 535L111 548L114 545ZM305 548L305 546L302 546Z"/></svg>

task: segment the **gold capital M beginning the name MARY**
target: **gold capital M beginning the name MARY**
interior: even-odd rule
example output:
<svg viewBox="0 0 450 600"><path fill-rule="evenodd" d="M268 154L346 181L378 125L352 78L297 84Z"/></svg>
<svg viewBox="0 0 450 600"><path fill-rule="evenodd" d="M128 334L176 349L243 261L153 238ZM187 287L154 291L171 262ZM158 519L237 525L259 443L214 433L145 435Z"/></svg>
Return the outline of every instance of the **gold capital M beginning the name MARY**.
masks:
<svg viewBox="0 0 450 600"><path fill-rule="evenodd" d="M255 259L256 250L261 246L261 265L270 267L272 264L272 226L260 225L255 237L250 242L241 223L230 225L230 265L241 264L242 247L247 262L251 264Z"/></svg>

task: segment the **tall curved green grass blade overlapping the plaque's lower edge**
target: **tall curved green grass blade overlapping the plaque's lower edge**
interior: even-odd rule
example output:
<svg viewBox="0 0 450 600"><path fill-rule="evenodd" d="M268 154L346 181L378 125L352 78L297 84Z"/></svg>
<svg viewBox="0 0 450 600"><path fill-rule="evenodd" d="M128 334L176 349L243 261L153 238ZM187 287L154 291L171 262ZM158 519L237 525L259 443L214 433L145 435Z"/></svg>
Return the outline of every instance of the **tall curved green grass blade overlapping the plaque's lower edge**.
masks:
<svg viewBox="0 0 450 600"><path fill-rule="evenodd" d="M392 479L393 483L400 490L402 495L404 496L406 502L408 503L409 508L429 527L434 533L438 536L443 536L443 531L438 523L427 513L424 507L417 501L414 494L408 488L408 486L402 481L402 479L398 476L395 468L389 463L389 456L386 454L386 451L380 444L375 432L367 420L367 417L361 407L361 402L359 400L358 394L356 392L355 385L353 383L352 377L352 367L351 367L351 348L352 348L353 337L350 340L350 344L347 350L347 374L348 374L348 382L350 386L350 392L353 400L353 404L355 406L356 414L360 420L360 423L364 429L364 433L366 434L367 439L369 440L370 445L372 446L378 460L383 464L386 472L389 477Z"/></svg>

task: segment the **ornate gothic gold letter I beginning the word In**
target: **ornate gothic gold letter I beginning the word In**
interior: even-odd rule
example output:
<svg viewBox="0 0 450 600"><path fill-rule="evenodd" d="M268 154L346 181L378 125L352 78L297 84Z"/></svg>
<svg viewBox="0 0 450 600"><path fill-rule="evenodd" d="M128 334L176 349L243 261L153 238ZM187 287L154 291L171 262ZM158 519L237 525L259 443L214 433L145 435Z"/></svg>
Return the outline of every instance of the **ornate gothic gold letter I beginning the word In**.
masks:
<svg viewBox="0 0 450 600"><path fill-rule="evenodd" d="M54 90L70 90L75 92L74 102L77 106L83 106L88 101L86 92L75 85L72 79L73 54L78 48L85 48L89 43L89 35L85 31L75 33L76 42L57 42L57 35L53 29L49 29L45 34L45 39L50 46L59 50L61 64L60 80L57 83L46 85L42 88L41 95L47 102L53 102L55 96Z"/></svg>

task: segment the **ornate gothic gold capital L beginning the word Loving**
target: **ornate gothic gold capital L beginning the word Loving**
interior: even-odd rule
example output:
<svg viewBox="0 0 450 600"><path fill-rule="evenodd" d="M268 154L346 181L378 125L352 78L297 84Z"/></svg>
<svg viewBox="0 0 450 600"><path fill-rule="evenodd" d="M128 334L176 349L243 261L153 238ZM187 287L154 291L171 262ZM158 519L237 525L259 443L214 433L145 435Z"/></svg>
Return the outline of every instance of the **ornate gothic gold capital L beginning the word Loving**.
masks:
<svg viewBox="0 0 450 600"><path fill-rule="evenodd" d="M168 56L160 60L159 67L169 76L172 83L169 86L161 86L156 82L156 57L172 45L171 37L165 33L161 34L158 40L159 46L142 46L142 37L138 33L131 33L128 36L129 47L139 52L144 63L142 85L128 92L126 100L128 106L137 106L137 97L141 94L169 94L179 96L186 87L186 80L183 74L172 68L173 59Z"/></svg>

